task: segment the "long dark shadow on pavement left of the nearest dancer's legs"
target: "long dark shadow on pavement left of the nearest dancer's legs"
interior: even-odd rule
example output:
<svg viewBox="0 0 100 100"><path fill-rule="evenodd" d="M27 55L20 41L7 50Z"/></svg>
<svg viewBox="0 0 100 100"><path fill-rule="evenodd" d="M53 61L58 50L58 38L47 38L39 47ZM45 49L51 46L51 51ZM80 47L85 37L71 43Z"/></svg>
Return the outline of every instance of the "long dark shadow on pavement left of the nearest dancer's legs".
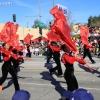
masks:
<svg viewBox="0 0 100 100"><path fill-rule="evenodd" d="M60 82L57 81L53 76L50 76L49 72L44 71L42 73L40 73L42 75L42 79L44 80L48 80L51 82L51 84L55 87L55 90L61 95L63 92L65 91L65 89L60 85ZM62 99L59 99L62 100Z"/></svg>

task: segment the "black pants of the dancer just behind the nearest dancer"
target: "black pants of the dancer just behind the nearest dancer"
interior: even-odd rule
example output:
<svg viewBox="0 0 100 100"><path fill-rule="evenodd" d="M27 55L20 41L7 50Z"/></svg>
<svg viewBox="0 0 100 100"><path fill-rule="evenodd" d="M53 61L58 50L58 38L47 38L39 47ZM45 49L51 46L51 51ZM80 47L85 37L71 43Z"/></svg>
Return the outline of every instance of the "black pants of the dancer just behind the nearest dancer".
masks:
<svg viewBox="0 0 100 100"><path fill-rule="evenodd" d="M55 70L58 71L58 75L62 75L62 68L61 68L61 61L60 61L60 57L53 57L55 63L57 64L56 67L50 69L52 72L54 72Z"/></svg>

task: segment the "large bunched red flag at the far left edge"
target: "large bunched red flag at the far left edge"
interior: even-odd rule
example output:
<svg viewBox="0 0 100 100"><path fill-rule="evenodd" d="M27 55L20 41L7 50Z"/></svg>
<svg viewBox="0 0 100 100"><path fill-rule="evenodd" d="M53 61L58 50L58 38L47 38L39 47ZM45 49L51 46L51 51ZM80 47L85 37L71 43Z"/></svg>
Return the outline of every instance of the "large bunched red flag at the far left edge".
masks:
<svg viewBox="0 0 100 100"><path fill-rule="evenodd" d="M10 46L17 46L19 41L19 36L16 34L18 29L18 24L13 22L7 22L0 34L0 40L2 42L8 42Z"/></svg>

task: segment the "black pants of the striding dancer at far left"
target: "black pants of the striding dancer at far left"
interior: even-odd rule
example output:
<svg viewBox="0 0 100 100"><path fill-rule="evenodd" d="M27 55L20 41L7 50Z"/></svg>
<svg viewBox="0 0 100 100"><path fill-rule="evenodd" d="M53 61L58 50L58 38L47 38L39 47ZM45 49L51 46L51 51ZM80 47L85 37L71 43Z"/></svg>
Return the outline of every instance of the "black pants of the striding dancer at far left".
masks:
<svg viewBox="0 0 100 100"><path fill-rule="evenodd" d="M20 90L16 72L14 68L11 66L11 61L4 62L2 65L2 78L0 79L0 85L4 83L7 78L8 72L11 74L14 82L15 91Z"/></svg>

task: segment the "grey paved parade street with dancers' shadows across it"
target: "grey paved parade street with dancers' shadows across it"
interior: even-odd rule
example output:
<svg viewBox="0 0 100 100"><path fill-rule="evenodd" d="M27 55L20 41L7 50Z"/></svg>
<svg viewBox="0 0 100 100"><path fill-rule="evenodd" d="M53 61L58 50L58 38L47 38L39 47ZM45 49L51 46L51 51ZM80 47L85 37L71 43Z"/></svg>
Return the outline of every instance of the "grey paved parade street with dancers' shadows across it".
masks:
<svg viewBox="0 0 100 100"><path fill-rule="evenodd" d="M91 64L88 58L86 58L86 61L94 69L94 73L91 73L88 68L75 63L75 76L79 87L89 90L93 94L94 100L99 100L100 58L93 57L93 59L96 64ZM2 63L0 63L0 66L2 66ZM18 81L20 88L27 90L31 94L30 100L61 100L62 93L67 90L67 85L63 77L57 77L56 72L50 76L48 70L53 66L55 66L55 63L52 59L50 64L46 64L45 56L34 56L32 60L25 60L24 63L20 64ZM64 72L63 64L62 68ZM0 71L1 76L2 72ZM11 97L14 91L11 76L8 75L6 82L3 84L3 91L0 93L0 100L12 100Z"/></svg>

